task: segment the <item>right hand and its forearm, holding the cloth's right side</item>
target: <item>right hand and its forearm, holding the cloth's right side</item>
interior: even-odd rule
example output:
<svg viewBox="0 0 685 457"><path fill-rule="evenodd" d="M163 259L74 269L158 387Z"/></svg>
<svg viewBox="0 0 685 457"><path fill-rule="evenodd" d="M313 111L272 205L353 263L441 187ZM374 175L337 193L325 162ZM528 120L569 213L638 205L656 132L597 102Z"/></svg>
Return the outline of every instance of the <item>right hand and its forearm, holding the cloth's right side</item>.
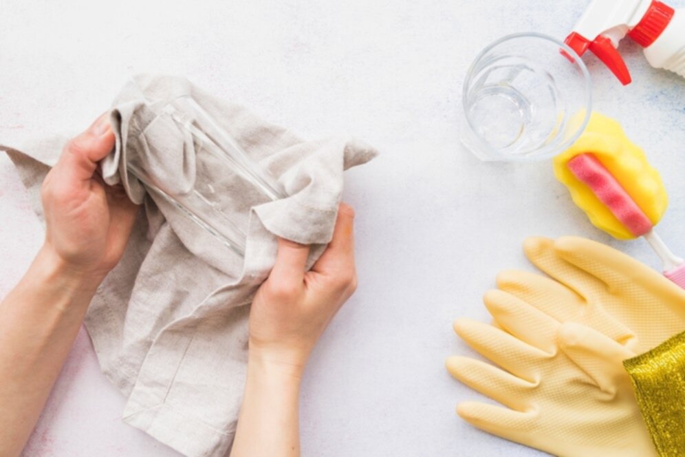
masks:
<svg viewBox="0 0 685 457"><path fill-rule="evenodd" d="M341 204L333 239L309 271L309 246L279 238L274 268L250 309L248 376L231 457L300 455L302 373L356 288L353 220L354 211Z"/></svg>

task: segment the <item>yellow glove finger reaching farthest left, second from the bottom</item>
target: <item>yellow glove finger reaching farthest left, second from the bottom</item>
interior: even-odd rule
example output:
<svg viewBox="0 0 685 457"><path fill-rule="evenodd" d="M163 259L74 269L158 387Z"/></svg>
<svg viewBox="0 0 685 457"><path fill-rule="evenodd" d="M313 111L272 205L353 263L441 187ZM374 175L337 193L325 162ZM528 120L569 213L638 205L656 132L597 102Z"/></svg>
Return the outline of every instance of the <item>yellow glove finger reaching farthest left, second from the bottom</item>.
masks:
<svg viewBox="0 0 685 457"><path fill-rule="evenodd" d="M450 357L445 366L457 381L494 401L499 401L512 410L524 410L528 398L536 387L488 363L468 357Z"/></svg>

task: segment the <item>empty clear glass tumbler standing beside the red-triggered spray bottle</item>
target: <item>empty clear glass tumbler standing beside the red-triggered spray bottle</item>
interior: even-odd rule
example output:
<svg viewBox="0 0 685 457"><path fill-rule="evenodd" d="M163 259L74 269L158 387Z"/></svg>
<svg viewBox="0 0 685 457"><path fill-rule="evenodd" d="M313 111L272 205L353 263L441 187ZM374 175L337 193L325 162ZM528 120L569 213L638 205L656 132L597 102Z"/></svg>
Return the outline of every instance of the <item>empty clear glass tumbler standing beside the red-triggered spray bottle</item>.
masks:
<svg viewBox="0 0 685 457"><path fill-rule="evenodd" d="M549 158L585 129L591 92L585 64L561 41L505 36L481 51L466 74L461 142L481 160Z"/></svg>

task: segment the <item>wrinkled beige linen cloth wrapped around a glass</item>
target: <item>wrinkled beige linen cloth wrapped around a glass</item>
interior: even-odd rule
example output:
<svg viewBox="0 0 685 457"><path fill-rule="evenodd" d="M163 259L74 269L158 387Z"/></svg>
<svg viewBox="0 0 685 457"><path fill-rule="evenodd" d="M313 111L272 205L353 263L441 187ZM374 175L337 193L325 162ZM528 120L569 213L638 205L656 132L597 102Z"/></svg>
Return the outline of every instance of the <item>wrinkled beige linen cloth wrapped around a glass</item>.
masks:
<svg viewBox="0 0 685 457"><path fill-rule="evenodd" d="M127 157L138 154L179 191L192 185L194 173L200 179L192 139L150 109L180 96L191 96L289 195L272 202L230 172L213 176L222 208L246 229L244 258L124 172ZM128 398L125 423L187 456L224 456L246 374L246 305L274 263L276 236L314 244L311 266L331 240L343 170L376 151L346 140L304 142L171 76L133 78L113 103L111 121L116 149L102 162L102 175L110 184L121 180L144 209L122 261L98 288L87 330L102 372ZM0 147L39 217L41 182L65 140Z"/></svg>

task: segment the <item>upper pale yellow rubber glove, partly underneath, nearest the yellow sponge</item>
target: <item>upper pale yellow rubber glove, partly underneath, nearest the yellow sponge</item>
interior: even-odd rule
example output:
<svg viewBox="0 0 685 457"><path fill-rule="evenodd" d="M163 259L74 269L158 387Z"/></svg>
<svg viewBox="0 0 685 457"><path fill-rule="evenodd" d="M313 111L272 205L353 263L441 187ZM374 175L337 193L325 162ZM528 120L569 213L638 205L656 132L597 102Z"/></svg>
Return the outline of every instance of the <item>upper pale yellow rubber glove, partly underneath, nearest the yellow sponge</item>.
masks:
<svg viewBox="0 0 685 457"><path fill-rule="evenodd" d="M685 330L685 290L629 255L580 237L529 238L524 251L565 292L522 271L502 273L497 286L557 321L585 323L638 354Z"/></svg>

